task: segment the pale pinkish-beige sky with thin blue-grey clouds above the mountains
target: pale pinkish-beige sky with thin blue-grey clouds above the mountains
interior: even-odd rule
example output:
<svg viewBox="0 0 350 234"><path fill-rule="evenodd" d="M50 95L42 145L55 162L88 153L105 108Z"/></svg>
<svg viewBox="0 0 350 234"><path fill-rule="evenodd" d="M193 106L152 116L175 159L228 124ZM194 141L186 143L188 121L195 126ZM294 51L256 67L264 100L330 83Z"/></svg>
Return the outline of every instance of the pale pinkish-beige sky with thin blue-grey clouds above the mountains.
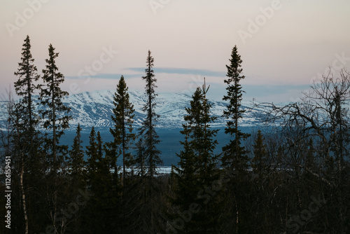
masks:
<svg viewBox="0 0 350 234"><path fill-rule="evenodd" d="M50 43L59 53L70 94L115 89L121 75L143 90L151 50L157 92L192 95L206 77L220 100L236 45L245 101L295 102L330 66L350 70L349 11L349 0L1 0L0 98L29 35L38 71Z"/></svg>

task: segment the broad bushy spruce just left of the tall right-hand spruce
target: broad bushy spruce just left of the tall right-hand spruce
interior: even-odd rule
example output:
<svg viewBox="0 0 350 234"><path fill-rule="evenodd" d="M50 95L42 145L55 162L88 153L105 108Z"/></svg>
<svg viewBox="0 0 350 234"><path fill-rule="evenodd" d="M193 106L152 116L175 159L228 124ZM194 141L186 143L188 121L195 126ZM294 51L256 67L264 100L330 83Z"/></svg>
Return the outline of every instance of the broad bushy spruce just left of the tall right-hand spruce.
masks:
<svg viewBox="0 0 350 234"><path fill-rule="evenodd" d="M218 144L214 137L218 130L212 130L210 126L216 117L211 116L212 104L207 99L208 90L204 79L202 89L197 88L193 94L190 108L186 108L187 115L184 117L187 125L183 126L182 133L187 136L182 142L184 149L179 154L180 167L174 170L177 171L174 174L177 179L174 204L179 205L179 214L188 211L190 204L194 203L200 211L193 212L192 219L181 230L177 230L179 233L218 233L221 226L220 195L219 191L212 188L220 176L218 156L214 154ZM176 223L173 228L176 228Z"/></svg>

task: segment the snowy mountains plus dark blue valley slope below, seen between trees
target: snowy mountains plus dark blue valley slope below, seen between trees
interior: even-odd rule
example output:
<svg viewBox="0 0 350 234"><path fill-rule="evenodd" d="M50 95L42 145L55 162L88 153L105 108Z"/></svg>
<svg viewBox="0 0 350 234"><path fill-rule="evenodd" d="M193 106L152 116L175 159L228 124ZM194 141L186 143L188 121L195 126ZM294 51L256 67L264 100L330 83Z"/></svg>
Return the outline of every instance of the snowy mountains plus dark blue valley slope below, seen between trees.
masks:
<svg viewBox="0 0 350 234"><path fill-rule="evenodd" d="M109 128L113 126L111 115L113 114L113 95L115 90L98 90L93 92L82 92L76 95L69 95L64 99L64 104L71 108L70 129L66 131L62 137L61 144L68 144L73 142L75 136L76 126L80 123L83 129L83 145L86 146L89 141L89 132L94 126L97 131L102 133L104 142L111 141L111 134ZM139 90L130 90L130 101L134 104L134 130L135 132L141 126L145 114L142 106L145 104L144 92ZM156 112L160 115L157 123L157 132L160 136L159 149L162 151L162 160L165 165L171 165L177 162L176 153L181 151L181 144L179 141L183 140L180 133L182 124L185 123L183 116L186 115L186 107L190 106L192 97L181 93L160 93L157 98ZM6 111L7 102L0 102L0 126L5 129L6 118L8 116ZM224 134L226 124L225 118L221 115L225 109L225 102L212 102L213 106L211 113L216 116L216 122L211 126L212 128L220 129L217 135L218 142L216 153L220 153L221 147L228 142L227 136ZM252 102L243 102L242 107L246 109L243 121L240 126L244 132L251 132L254 128L261 128L265 118L265 110L263 108L256 108Z"/></svg>

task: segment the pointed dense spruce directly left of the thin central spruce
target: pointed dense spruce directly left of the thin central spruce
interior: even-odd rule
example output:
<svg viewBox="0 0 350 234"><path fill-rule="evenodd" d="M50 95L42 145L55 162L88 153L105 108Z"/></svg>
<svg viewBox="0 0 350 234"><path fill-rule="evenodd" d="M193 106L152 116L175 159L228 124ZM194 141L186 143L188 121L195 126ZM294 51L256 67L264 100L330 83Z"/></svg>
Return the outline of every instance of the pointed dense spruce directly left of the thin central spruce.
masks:
<svg viewBox="0 0 350 234"><path fill-rule="evenodd" d="M124 76L121 76L113 97L114 108L111 118L114 128L110 128L114 137L111 144L115 148L120 146L120 153L123 156L123 183L125 182L126 167L129 167L132 161L132 154L129 151L130 143L135 139L135 134L132 132L134 105L130 102L127 90Z"/></svg>

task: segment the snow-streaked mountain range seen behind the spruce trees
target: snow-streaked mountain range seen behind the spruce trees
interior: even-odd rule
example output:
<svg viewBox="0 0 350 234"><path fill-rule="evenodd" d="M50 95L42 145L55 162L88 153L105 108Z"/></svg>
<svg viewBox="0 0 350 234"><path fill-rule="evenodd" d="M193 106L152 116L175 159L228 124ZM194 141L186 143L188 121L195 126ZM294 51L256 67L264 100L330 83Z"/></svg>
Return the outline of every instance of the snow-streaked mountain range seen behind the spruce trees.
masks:
<svg viewBox="0 0 350 234"><path fill-rule="evenodd" d="M78 123L85 127L106 127L112 126L111 115L113 114L113 95L115 90L97 90L92 92L82 92L76 95L69 95L64 99L64 104L71 107L70 121L71 128ZM129 90L130 102L134 104L135 117L134 125L137 128L144 120L145 114L141 110L146 102L146 95L139 90ZM181 128L185 123L183 116L186 115L186 107L190 106L192 97L182 93L159 93L157 97L156 113L160 115L157 126L159 128ZM0 102L0 124L6 121L6 103ZM226 121L221 117L225 109L225 102L211 102L213 104L211 113L218 117L213 127L222 127ZM241 126L253 126L262 123L265 116L262 109L253 108L252 102L242 102L242 107L246 109Z"/></svg>

